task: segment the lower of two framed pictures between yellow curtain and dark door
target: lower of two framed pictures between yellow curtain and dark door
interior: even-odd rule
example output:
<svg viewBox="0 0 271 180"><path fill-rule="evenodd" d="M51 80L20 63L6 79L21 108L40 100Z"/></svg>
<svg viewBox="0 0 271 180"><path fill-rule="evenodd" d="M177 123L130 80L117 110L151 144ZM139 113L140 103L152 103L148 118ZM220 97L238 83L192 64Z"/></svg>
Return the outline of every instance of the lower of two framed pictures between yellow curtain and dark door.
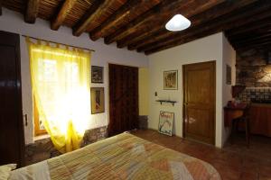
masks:
<svg viewBox="0 0 271 180"><path fill-rule="evenodd" d="M91 87L91 114L105 112L104 87Z"/></svg>

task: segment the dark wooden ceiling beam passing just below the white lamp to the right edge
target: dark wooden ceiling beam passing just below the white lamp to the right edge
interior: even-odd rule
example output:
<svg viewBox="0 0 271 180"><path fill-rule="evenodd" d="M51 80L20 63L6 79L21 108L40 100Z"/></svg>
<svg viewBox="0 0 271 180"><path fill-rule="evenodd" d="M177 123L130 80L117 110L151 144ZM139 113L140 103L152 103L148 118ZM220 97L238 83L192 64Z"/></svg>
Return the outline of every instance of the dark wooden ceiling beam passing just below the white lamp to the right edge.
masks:
<svg viewBox="0 0 271 180"><path fill-rule="evenodd" d="M251 6L255 6L252 4ZM252 8L252 7L250 7ZM246 8L248 10L248 8ZM257 8L250 9L250 11L244 11L241 9L238 12L227 15L227 17L221 16L212 22L203 23L198 27L192 28L188 33L178 34L177 37L169 37L166 40L160 40L152 44L148 44L142 48L137 49L138 51L145 51L145 54L151 54L163 49L169 49L183 43L197 40L205 36L217 33L220 31L229 30L231 28L237 28L238 26L244 25L246 23L256 22L260 19L271 17L271 3L264 2L257 4ZM249 12L249 13L248 13ZM254 18L248 18L253 16Z"/></svg>

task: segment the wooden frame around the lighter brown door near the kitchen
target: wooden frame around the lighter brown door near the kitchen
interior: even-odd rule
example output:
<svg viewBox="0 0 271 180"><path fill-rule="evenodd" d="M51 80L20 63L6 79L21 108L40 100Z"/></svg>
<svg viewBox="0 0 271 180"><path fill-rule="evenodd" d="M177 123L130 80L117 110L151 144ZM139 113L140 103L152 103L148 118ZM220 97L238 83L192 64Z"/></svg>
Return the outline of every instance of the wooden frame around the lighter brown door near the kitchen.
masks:
<svg viewBox="0 0 271 180"><path fill-rule="evenodd" d="M185 107L184 107L184 100L185 100L185 71L184 71L184 67L187 66L187 65L201 65L201 64L205 64L205 63L212 63L213 66L214 66L214 69L213 69L213 74L214 74L214 99L213 99L213 139L212 139L212 143L211 145L215 145L216 143L216 107L217 107L217 63L216 63L216 60L209 60L209 61L202 61L202 62L197 62L197 63L191 63L191 64L184 64L182 65L182 137L183 138L186 138L185 136ZM186 138L186 139L190 139L190 138ZM201 143L204 143L205 142L202 142L200 140L197 140L197 139L192 139L194 141L199 141ZM208 143L206 143L208 144Z"/></svg>

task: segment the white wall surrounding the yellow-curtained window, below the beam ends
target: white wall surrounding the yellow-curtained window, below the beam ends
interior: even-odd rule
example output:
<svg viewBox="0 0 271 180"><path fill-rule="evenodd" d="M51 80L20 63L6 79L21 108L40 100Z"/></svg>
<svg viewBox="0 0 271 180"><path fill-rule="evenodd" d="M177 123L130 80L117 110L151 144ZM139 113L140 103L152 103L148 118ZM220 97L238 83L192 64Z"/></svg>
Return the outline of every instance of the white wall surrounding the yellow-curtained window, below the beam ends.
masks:
<svg viewBox="0 0 271 180"><path fill-rule="evenodd" d="M117 49L116 44L106 45L103 40L92 41L87 33L80 37L72 36L71 29L61 27L59 31L51 31L50 23L37 19L35 24L23 22L23 15L3 9L3 15L0 16L0 30L11 31L21 35L28 35L35 38L57 41L82 48L95 49L92 53L91 65L102 66L104 69L104 84L91 86L105 87L106 112L91 116L89 129L105 126L108 123L108 84L107 84L107 64L116 63L134 67L147 67L148 60L144 54L127 49ZM24 38L21 36L21 68L23 85L23 114L28 114L29 121L32 121L33 101L30 81L29 58ZM25 142L33 142L33 123L29 123L24 128Z"/></svg>

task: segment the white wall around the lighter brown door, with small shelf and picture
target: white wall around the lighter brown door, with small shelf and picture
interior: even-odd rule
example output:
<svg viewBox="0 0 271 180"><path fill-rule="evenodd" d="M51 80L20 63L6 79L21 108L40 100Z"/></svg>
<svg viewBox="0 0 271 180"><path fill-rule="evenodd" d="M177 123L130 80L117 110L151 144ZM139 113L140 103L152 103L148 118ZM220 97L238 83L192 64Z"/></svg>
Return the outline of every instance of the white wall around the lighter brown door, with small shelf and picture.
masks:
<svg viewBox="0 0 271 180"><path fill-rule="evenodd" d="M200 40L183 44L172 49L166 49L154 53L149 58L149 128L157 130L159 121L159 112L174 112L175 122L174 130L177 136L182 137L182 65L203 62L216 61L216 141L217 147L222 147L222 37L223 33L217 33ZM163 72L164 70L178 69L178 90L164 90ZM158 96L154 96L154 92ZM155 102L158 98L170 98L178 103L163 104Z"/></svg>

